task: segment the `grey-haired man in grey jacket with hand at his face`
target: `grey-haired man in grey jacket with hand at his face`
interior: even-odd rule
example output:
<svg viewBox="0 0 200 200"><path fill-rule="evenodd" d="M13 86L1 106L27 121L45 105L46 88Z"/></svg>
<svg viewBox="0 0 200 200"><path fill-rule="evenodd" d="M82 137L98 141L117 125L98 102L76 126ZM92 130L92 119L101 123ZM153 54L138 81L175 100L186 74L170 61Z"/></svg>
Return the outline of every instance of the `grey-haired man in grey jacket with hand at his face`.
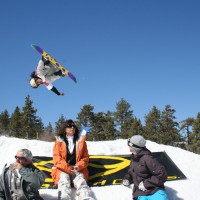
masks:
<svg viewBox="0 0 200 200"><path fill-rule="evenodd" d="M45 175L33 165L31 151L20 149L15 159L14 163L5 165L0 175L0 199L43 200L39 189Z"/></svg>

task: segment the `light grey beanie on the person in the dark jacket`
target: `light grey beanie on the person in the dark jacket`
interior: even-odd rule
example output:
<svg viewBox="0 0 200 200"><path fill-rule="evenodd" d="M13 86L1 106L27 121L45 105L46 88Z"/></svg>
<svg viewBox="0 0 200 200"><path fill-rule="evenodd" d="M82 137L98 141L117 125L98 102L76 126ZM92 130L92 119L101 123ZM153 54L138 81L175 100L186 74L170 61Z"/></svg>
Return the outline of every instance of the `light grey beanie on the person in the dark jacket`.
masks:
<svg viewBox="0 0 200 200"><path fill-rule="evenodd" d="M131 137L128 145L138 152L145 147L146 140L141 135L134 135L133 137Z"/></svg>

